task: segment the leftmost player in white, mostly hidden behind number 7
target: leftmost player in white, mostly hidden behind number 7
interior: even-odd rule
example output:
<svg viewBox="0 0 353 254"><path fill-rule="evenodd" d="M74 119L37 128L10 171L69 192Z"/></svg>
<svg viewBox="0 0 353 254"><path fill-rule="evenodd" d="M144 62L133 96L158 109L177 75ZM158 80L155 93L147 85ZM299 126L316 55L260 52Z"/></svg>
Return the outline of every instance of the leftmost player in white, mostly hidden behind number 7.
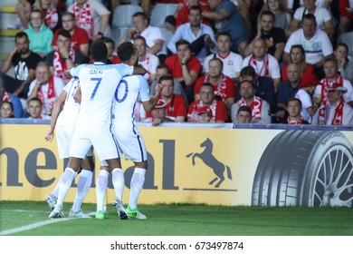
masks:
<svg viewBox="0 0 353 254"><path fill-rule="evenodd" d="M44 139L52 142L54 138L54 129L56 127L57 144L60 159L69 159L70 144L72 134L75 130L77 116L80 111L80 103L73 98L74 94L80 87L78 78L66 84L62 93L56 100L52 109L52 120ZM86 158L81 163L81 176L77 183L77 193L73 201L72 209L69 217L71 218L90 218L81 210L81 204L84 197L91 188L92 175L94 170L93 150L88 151ZM48 202L51 210L54 209L59 193L59 182L54 190L49 193L45 200ZM61 215L63 217L63 214Z"/></svg>

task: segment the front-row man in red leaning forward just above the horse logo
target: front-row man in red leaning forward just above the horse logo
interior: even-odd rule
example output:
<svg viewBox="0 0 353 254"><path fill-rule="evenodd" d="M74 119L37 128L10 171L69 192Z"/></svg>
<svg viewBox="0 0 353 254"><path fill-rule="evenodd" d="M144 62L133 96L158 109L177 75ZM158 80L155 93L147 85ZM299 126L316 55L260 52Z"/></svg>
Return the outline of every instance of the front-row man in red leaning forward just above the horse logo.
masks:
<svg viewBox="0 0 353 254"><path fill-rule="evenodd" d="M190 104L187 112L187 122L198 122L198 112L202 107L212 111L210 122L227 122L227 108L221 100L215 99L215 89L212 83L203 83L200 88L200 100Z"/></svg>

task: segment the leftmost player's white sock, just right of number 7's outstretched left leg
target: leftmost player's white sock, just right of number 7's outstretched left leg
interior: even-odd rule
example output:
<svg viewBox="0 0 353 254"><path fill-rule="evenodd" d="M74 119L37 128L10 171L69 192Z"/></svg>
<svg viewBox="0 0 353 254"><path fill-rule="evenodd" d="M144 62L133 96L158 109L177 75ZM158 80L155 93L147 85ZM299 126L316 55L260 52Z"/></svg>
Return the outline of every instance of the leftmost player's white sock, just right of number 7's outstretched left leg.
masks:
<svg viewBox="0 0 353 254"><path fill-rule="evenodd" d="M77 182L77 192L75 200L73 201L72 211L77 212L81 210L81 204L84 197L86 197L88 191L91 188L92 183L92 171L82 170L80 174L80 179Z"/></svg>

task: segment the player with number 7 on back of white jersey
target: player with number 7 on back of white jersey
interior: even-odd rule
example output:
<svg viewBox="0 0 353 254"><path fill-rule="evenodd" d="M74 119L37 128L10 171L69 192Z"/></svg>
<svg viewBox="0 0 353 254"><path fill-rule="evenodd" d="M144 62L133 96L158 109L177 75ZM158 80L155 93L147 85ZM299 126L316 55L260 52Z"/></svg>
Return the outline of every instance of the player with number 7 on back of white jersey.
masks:
<svg viewBox="0 0 353 254"><path fill-rule="evenodd" d="M123 76L146 73L142 67L104 64L108 50L100 40L91 44L90 52L94 64L81 64L71 70L72 76L80 79L81 108L72 136L69 162L60 180L58 200L49 218L61 217L63 200L91 146L100 161L107 161L110 171L121 168L118 145L110 132L111 102ZM100 176L97 182L97 188L100 188Z"/></svg>

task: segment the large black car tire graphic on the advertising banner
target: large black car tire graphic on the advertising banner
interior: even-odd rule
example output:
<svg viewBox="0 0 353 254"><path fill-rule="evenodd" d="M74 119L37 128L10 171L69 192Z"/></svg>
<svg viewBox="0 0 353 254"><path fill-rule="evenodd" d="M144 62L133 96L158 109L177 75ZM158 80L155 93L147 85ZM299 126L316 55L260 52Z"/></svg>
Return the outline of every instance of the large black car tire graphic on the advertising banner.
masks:
<svg viewBox="0 0 353 254"><path fill-rule="evenodd" d="M353 207L353 148L342 132L283 131L253 181L253 206Z"/></svg>

